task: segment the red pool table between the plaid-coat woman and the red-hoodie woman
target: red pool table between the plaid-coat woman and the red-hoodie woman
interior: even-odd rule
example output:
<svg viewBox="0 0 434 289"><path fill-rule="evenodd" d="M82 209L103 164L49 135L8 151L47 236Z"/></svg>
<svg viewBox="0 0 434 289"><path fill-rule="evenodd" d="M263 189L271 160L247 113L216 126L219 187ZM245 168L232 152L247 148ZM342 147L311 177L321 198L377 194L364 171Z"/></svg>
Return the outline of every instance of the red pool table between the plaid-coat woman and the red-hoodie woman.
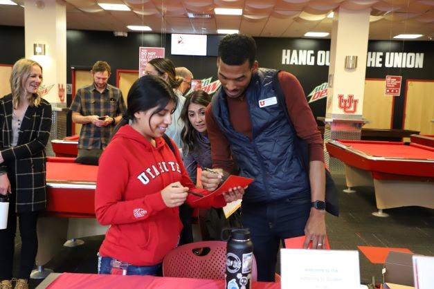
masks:
<svg viewBox="0 0 434 289"><path fill-rule="evenodd" d="M47 207L37 224L37 265L50 261L66 240L105 234L107 230L95 218L98 167L76 164L74 160L47 159Z"/></svg>

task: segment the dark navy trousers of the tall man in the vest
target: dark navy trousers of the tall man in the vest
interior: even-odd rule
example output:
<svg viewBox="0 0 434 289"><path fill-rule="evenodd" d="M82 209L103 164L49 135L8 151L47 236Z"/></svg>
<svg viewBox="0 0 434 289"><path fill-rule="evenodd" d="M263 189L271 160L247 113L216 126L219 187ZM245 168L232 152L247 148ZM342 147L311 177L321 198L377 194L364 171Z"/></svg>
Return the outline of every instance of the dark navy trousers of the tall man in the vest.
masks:
<svg viewBox="0 0 434 289"><path fill-rule="evenodd" d="M257 281L274 281L280 241L305 234L310 209L310 198L242 204L241 223L251 232Z"/></svg>

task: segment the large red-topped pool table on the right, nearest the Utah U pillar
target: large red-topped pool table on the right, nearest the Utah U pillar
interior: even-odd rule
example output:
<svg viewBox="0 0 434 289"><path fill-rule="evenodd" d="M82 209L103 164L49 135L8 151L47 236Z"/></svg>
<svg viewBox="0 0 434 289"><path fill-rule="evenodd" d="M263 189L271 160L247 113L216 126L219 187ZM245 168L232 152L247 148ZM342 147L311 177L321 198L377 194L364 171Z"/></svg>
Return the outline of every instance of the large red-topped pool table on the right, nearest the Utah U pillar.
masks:
<svg viewBox="0 0 434 289"><path fill-rule="evenodd" d="M332 140L326 147L345 163L347 187L374 186L375 216L392 207L434 209L434 147L368 140Z"/></svg>

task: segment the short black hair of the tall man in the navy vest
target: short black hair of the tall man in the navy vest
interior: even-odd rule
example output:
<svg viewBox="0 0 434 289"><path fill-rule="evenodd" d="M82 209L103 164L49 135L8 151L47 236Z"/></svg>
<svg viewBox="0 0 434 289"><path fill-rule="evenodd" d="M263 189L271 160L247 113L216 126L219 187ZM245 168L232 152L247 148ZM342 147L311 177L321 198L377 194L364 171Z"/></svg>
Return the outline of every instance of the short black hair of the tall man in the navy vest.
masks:
<svg viewBox="0 0 434 289"><path fill-rule="evenodd" d="M219 43L219 58L228 65L242 65L248 60L250 67L256 60L256 43L251 36L230 34Z"/></svg>

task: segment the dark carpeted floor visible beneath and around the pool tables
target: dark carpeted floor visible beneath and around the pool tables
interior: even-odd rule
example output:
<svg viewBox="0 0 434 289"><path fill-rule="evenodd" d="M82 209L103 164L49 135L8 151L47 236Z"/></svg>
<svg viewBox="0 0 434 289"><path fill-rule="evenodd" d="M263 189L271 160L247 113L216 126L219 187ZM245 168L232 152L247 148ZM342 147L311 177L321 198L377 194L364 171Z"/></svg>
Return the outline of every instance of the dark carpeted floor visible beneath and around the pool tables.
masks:
<svg viewBox="0 0 434 289"><path fill-rule="evenodd" d="M338 188L344 189L345 179L335 177ZM388 209L388 218L372 216L377 211L374 189L356 188L354 194L341 192L341 216L327 215L327 234L332 249L358 250L357 246L376 246L408 248L417 254L434 255L434 210L422 207L402 207ZM409 192L410 193L410 192ZM64 248L53 258L47 268L55 272L96 273L96 253L103 236L83 238L84 245L76 248ZM15 269L21 242L16 240ZM370 263L361 252L360 271L362 283L370 283L372 277L381 281L381 264ZM280 265L276 266L280 272ZM41 280L31 280L30 288L35 288Z"/></svg>

